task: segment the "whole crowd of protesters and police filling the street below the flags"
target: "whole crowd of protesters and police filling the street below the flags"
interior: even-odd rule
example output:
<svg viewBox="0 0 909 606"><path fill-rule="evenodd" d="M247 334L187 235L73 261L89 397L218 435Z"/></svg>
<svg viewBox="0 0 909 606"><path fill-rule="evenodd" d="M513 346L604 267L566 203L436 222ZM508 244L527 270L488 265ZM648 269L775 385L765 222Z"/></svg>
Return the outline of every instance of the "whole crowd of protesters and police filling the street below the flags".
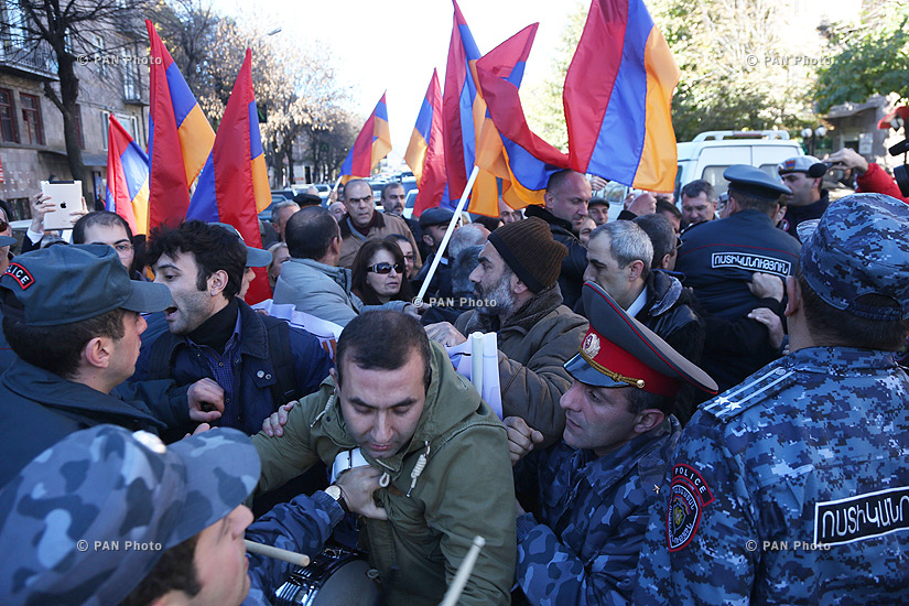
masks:
<svg viewBox="0 0 909 606"><path fill-rule="evenodd" d="M354 180L262 248L107 212L66 244L36 196L13 256L0 205L0 602L283 604L247 540L434 605L475 537L463 605L905 602L909 201L838 154L863 192L798 156L614 220L572 171L475 220ZM257 268L336 346L248 305ZM452 364L477 332L500 414Z"/></svg>

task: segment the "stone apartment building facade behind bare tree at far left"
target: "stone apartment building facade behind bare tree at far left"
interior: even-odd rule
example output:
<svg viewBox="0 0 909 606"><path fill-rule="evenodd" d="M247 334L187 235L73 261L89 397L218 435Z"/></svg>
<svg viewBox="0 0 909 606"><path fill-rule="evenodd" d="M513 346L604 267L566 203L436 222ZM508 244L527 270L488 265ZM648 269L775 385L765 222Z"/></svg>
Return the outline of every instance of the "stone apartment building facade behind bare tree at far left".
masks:
<svg viewBox="0 0 909 606"><path fill-rule="evenodd" d="M30 218L29 198L41 181L71 180L63 115L45 96L59 96L54 53L46 43L25 40L14 23L17 0L2 3L0 25L0 198L11 203L13 219ZM89 47L77 50L79 148L96 201L104 201L107 176L108 117L113 113L143 149L148 148L148 34L141 19L125 18L117 28L83 31Z"/></svg>

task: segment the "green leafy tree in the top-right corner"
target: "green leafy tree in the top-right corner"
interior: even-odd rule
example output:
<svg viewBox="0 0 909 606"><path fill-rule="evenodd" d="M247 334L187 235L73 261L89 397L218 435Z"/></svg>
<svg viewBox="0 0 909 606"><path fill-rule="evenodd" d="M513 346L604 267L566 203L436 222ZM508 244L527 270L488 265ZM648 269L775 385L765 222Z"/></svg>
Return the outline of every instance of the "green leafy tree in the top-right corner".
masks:
<svg viewBox="0 0 909 606"><path fill-rule="evenodd" d="M909 99L909 2L881 4L857 24L830 26L827 35L831 61L820 69L816 88L822 112L874 94Z"/></svg>

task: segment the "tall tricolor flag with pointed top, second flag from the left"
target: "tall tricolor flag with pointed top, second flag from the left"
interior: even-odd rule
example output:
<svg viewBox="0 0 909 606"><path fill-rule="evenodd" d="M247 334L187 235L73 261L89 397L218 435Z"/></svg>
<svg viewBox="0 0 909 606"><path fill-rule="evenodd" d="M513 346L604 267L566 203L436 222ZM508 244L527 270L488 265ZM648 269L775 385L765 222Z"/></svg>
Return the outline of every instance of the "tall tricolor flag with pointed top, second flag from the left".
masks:
<svg viewBox="0 0 909 606"><path fill-rule="evenodd" d="M215 132L151 21L149 158L150 223L183 219L190 185L205 164Z"/></svg>

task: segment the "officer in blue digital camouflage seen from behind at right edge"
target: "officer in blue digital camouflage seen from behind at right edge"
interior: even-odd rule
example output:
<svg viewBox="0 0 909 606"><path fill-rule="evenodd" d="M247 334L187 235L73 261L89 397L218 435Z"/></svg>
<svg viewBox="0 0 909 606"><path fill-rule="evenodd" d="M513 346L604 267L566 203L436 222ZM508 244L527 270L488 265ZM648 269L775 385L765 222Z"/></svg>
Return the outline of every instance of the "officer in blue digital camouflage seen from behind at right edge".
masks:
<svg viewBox="0 0 909 606"><path fill-rule="evenodd" d="M701 407L635 604L901 604L909 554L909 207L831 203L787 279L791 354Z"/></svg>

